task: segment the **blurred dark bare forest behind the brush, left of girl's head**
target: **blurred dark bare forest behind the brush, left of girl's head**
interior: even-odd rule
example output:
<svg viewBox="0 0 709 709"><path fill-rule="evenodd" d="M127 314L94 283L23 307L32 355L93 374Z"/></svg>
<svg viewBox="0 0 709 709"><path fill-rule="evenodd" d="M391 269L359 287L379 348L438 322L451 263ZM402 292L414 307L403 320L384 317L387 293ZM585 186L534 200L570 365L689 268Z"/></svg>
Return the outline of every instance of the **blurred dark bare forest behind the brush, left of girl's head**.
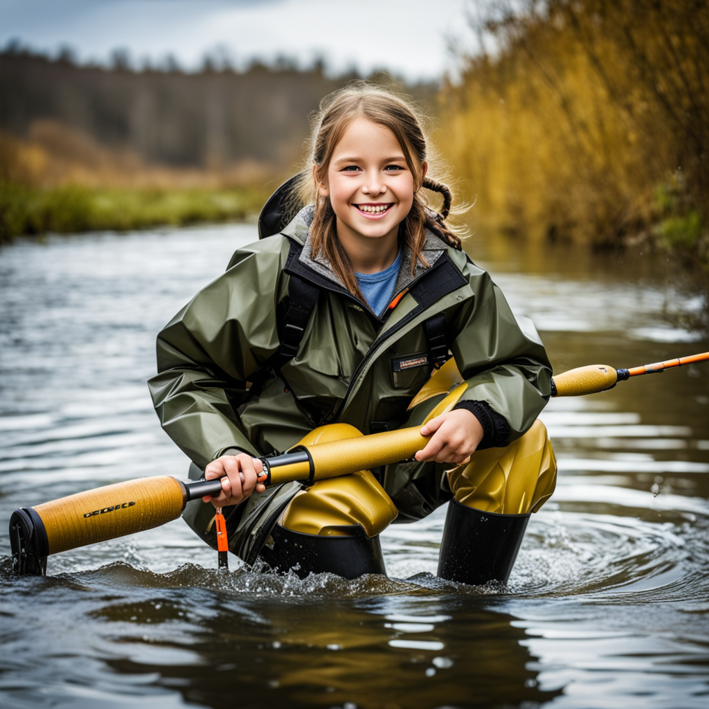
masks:
<svg viewBox="0 0 709 709"><path fill-rule="evenodd" d="M158 179L155 169L166 168L254 182L298 162L308 116L320 99L362 78L328 77L323 69L286 61L254 62L242 72L209 62L195 73L177 65L135 70L125 61L106 69L11 46L0 52L0 130L6 142L12 135L20 148L33 148L29 172L44 153L49 172L33 179L60 181L73 164L87 168L81 177L93 172L103 184L111 166L115 181L126 172L140 179L138 173L151 169ZM433 98L436 89L411 90Z"/></svg>

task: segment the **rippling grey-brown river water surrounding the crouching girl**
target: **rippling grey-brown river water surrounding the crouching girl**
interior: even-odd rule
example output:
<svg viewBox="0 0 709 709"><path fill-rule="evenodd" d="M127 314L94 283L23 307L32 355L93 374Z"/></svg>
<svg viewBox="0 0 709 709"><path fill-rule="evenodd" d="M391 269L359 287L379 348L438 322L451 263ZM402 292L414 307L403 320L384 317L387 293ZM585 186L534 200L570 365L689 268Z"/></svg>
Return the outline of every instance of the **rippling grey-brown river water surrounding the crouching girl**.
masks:
<svg viewBox="0 0 709 709"><path fill-rule="evenodd" d="M13 509L186 478L145 380L158 330L252 225L0 250L0 528ZM557 372L709 350L706 289L662 257L471 242ZM704 328L704 329L703 329ZM705 708L709 363L549 403L557 492L507 588L437 579L445 509L383 535L389 577L240 567L176 520L18 577L0 536L4 708Z"/></svg>

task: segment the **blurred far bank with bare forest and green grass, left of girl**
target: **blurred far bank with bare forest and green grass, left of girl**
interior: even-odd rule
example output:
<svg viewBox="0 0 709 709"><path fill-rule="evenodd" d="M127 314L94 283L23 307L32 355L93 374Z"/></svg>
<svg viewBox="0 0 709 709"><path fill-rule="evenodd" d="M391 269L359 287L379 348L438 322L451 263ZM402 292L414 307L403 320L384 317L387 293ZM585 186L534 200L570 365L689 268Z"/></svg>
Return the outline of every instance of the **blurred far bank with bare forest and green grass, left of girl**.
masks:
<svg viewBox="0 0 709 709"><path fill-rule="evenodd" d="M320 99L362 78L330 77L322 62L206 60L189 73L115 57L106 68L0 52L0 242L243 218L300 162ZM437 86L407 90L435 102Z"/></svg>

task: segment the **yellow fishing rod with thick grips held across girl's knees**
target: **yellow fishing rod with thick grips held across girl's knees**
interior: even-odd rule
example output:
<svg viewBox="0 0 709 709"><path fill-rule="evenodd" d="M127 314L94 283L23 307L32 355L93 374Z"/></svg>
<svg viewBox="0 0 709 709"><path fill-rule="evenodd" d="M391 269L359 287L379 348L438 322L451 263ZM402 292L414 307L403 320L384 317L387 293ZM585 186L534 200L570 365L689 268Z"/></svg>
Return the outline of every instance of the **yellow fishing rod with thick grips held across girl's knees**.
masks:
<svg viewBox="0 0 709 709"><path fill-rule="evenodd" d="M605 364L579 367L554 376L552 396L598 393L612 389L618 381L631 376L664 372L708 359L709 352L703 352L632 369L614 369ZM454 361L450 362L448 379L452 384L462 377ZM445 367L437 372L443 373ZM452 372L455 375L450 376ZM434 387L428 396L447 393L451 384L446 380L442 389ZM450 411L466 389L467 384L452 389L423 423ZM318 442L316 437L311 445L298 445L275 457L259 458L266 474L266 479L260 482L266 486L290 481L312 482L372 469L411 459L428 441L428 437L420 434L420 425L370 435L363 435L354 426L343 423L325 428L330 430L328 441ZM206 495L218 496L221 490L220 479L182 482L170 476L155 476L19 508L10 518L13 567L18 574L45 574L49 554L160 527L182 515L189 501ZM223 552L221 545L220 552Z"/></svg>

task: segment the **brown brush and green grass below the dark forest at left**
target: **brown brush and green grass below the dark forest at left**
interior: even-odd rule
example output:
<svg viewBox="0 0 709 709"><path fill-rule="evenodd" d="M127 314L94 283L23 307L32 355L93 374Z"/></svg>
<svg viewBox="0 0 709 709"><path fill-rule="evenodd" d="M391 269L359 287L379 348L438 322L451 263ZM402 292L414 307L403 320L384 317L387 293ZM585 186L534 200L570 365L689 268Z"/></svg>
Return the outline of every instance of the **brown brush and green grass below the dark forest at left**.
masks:
<svg viewBox="0 0 709 709"><path fill-rule="evenodd" d="M253 163L218 171L146 166L48 121L35 123L27 140L0 134L0 166L0 242L242 219L262 206L275 172Z"/></svg>

